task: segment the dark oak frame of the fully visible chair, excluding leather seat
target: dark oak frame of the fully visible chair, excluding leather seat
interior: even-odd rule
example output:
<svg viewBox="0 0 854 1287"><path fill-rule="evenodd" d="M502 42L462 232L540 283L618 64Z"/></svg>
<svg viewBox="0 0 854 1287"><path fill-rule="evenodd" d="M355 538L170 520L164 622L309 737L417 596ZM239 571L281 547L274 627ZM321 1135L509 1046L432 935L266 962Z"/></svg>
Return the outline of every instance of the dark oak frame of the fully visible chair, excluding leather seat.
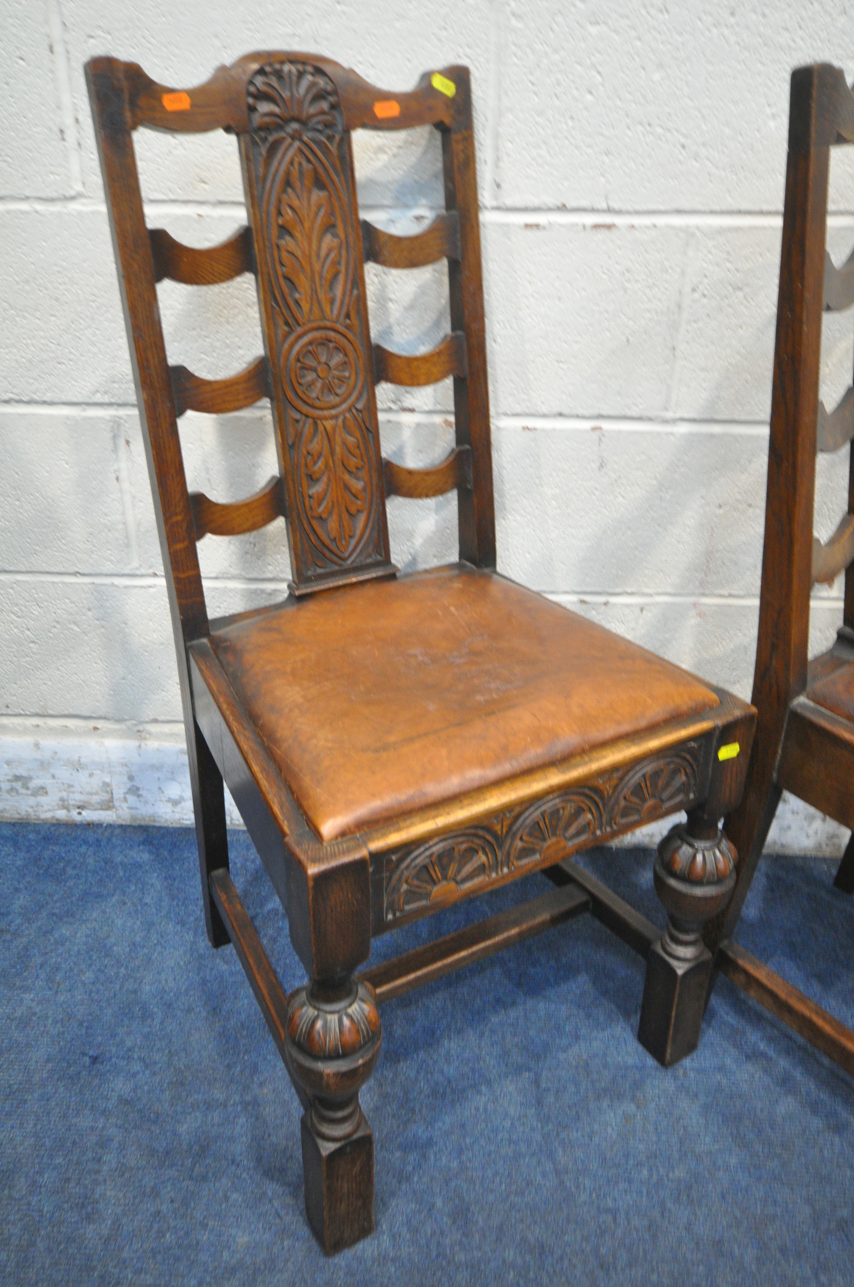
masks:
<svg viewBox="0 0 854 1287"><path fill-rule="evenodd" d="M309 54L251 54L189 90L157 85L136 64L112 58L95 58L86 71L175 625L207 933L214 946L234 943L304 1104L306 1211L324 1250L336 1251L373 1228L373 1136L359 1106L359 1088L379 1053L378 1003L592 911L647 959L639 1040L664 1064L695 1049L711 970L701 927L725 903L734 880L734 853L719 820L741 795L755 712L729 694L711 690L711 708L700 714L670 719L652 731L620 737L441 806L404 811L356 835L322 840L211 646L223 622L208 620L195 546L206 533L243 533L286 517L292 598L304 601L331 587L395 577L385 495L431 497L457 489L460 566L495 568L468 69L446 67L427 73L414 91L404 94L377 90L337 63ZM446 211L412 238L359 225L350 131L415 125L432 125L441 133ZM180 246L162 229L149 233L132 144L139 126L234 133L250 227L210 250ZM273 208L270 201L279 202L283 188L278 162L270 160L269 139L282 138L282 131L302 140L314 167L307 178L304 167L304 187L322 174L327 194L336 194L338 233L351 255L352 277L347 281L356 283L361 302L347 314L346 335L334 301L311 326L334 332L336 344L347 347L347 369L361 372L373 366L373 378L359 382L354 377L363 423L370 430L377 422L374 381L419 385L454 377L454 450L433 468L409 470L390 461L381 463L378 434L368 432L360 486L373 489L376 503L370 508L364 502L363 511L369 514L359 520L363 525L355 535L345 539L343 529L338 530L337 551L311 530L309 520L311 515L316 520L319 511L316 506L311 514L306 508L310 481L288 435L288 405L302 405L307 394L305 387L288 385L295 333L302 332L282 332L270 293L277 268L265 220ZM404 356L369 345L363 282L367 259L394 268L446 260L451 333L432 353ZM259 281L265 355L239 376L217 381L170 367L157 281L170 277L206 284L242 272L255 273ZM341 281L345 278L342 273ZM277 308L289 309L288 299ZM302 324L305 318L297 320ZM224 413L260 396L273 404L279 476L235 505L189 494L177 417L186 408ZM229 875L224 780L287 910L293 946L309 974L309 985L289 997ZM662 936L568 856L680 810L688 811L688 824L670 833L655 869L656 888L668 909ZM418 901L412 873L424 873L437 855L471 843L472 828L500 855L496 870L487 878L476 873L445 882L449 888L439 903L421 894ZM525 828L529 840L522 855ZM369 956L372 934L436 910L448 898L481 893L535 870L545 871L557 888L526 907L355 973ZM392 887L408 891L406 897L391 897Z"/></svg>

